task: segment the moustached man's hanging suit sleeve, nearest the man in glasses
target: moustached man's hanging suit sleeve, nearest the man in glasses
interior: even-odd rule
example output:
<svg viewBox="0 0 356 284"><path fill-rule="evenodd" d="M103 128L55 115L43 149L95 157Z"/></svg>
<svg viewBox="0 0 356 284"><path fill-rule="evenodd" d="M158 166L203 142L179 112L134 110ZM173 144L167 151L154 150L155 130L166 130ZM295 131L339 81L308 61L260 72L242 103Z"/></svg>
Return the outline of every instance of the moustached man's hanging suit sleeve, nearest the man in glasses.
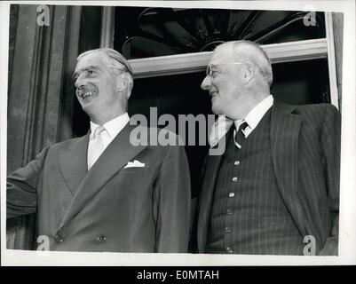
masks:
<svg viewBox="0 0 356 284"><path fill-rule="evenodd" d="M191 216L191 185L184 146L169 146L156 186L158 218L155 252L186 253Z"/></svg>

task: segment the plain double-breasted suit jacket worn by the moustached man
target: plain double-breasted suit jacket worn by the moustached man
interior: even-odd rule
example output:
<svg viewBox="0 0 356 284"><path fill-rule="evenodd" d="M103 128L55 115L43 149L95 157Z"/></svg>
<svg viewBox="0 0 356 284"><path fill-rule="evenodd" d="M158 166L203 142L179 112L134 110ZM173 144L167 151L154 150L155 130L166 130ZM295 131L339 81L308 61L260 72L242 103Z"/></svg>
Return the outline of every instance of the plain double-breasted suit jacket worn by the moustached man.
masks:
<svg viewBox="0 0 356 284"><path fill-rule="evenodd" d="M7 217L36 212L50 250L186 252L191 193L184 147L133 146L134 129L127 124L89 171L89 133L44 148L8 177Z"/></svg>

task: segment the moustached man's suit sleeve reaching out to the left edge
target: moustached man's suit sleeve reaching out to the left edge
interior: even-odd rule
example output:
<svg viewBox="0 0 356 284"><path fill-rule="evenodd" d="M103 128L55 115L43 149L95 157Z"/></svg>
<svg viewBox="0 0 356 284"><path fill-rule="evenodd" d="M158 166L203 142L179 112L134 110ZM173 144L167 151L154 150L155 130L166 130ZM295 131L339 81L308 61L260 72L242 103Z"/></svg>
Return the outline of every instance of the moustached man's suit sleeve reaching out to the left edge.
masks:
<svg viewBox="0 0 356 284"><path fill-rule="evenodd" d="M15 170L6 180L7 218L19 217L36 212L37 181L41 175L48 147L36 159L19 170Z"/></svg>

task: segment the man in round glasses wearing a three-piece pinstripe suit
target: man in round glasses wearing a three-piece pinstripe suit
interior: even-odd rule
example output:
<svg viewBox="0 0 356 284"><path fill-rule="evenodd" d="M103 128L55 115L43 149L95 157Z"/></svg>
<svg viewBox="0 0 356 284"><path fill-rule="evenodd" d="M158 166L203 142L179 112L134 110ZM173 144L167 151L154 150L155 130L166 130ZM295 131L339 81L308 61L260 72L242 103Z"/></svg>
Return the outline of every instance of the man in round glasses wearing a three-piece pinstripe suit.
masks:
<svg viewBox="0 0 356 284"><path fill-rule="evenodd" d="M199 253L337 255L340 114L285 105L270 95L272 82L256 43L213 52L202 89L230 127L225 153L209 155L202 170Z"/></svg>

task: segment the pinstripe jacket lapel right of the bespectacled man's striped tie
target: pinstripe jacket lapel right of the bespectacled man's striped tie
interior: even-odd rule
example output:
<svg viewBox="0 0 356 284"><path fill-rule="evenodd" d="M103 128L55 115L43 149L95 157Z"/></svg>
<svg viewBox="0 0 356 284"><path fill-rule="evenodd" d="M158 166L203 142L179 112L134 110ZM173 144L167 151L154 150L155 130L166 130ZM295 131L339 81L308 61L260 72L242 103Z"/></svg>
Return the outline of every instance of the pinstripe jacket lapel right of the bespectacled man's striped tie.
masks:
<svg viewBox="0 0 356 284"><path fill-rule="evenodd" d="M271 146L273 168L281 198L295 221L299 232L305 236L305 217L297 193L298 137L301 118L292 112L295 106L274 101L271 116Z"/></svg>

